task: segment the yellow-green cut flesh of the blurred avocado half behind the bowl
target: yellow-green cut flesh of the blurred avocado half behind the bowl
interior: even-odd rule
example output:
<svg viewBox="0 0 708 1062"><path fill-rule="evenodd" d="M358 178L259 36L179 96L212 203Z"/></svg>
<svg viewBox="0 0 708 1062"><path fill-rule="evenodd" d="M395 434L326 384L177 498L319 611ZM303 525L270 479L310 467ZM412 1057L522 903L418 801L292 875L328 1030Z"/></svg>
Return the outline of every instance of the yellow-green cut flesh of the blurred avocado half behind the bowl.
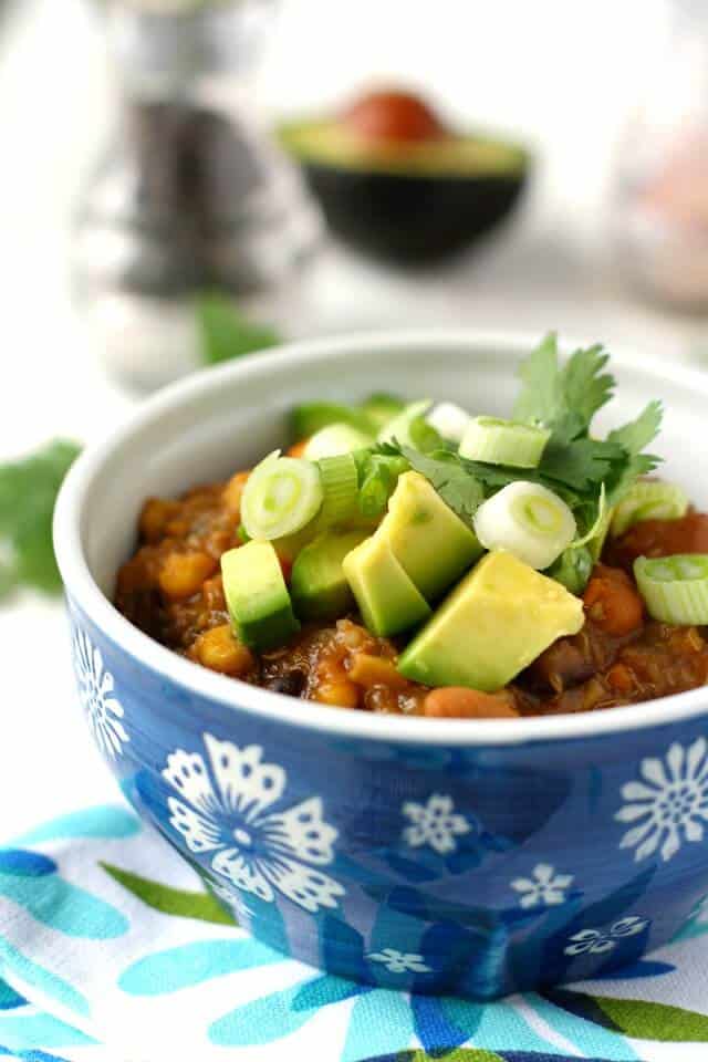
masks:
<svg viewBox="0 0 708 1062"><path fill-rule="evenodd" d="M469 178L519 175L527 165L523 148L488 137L367 144L332 121L290 123L279 136L301 160L341 169Z"/></svg>

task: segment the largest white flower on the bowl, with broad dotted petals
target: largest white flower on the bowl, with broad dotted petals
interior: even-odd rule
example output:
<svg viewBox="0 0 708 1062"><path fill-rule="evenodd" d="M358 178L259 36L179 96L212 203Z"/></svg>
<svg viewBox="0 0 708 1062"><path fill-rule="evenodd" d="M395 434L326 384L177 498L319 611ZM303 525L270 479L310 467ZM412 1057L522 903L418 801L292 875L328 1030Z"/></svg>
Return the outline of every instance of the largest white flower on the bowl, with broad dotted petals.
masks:
<svg viewBox="0 0 708 1062"><path fill-rule="evenodd" d="M208 763L177 749L162 772L180 794L168 798L169 821L189 851L210 853L215 874L268 903L280 893L313 914L336 907L344 887L319 867L334 860L337 831L323 820L320 798L270 811L285 791L285 771L263 763L258 745L240 749L209 733L204 745Z"/></svg>

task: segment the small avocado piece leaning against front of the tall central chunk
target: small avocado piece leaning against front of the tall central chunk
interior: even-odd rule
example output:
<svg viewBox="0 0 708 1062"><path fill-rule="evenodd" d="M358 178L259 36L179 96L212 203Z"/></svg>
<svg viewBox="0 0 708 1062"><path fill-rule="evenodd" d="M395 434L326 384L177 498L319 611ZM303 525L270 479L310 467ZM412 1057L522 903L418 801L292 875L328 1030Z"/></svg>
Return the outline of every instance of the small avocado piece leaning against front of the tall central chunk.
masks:
<svg viewBox="0 0 708 1062"><path fill-rule="evenodd" d="M394 556L385 538L374 534L342 562L368 631L381 637L423 623L430 606Z"/></svg>

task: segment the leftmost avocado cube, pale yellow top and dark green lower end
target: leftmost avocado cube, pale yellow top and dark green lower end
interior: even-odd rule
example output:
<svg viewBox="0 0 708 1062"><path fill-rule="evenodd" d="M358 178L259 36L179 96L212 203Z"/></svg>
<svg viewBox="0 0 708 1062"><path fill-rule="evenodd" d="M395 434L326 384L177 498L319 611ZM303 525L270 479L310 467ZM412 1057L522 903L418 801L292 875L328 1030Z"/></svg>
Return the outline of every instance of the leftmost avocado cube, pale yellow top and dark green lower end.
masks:
<svg viewBox="0 0 708 1062"><path fill-rule="evenodd" d="M223 593L233 629L262 652L284 645L300 629L278 554L270 542L247 542L221 556Z"/></svg>

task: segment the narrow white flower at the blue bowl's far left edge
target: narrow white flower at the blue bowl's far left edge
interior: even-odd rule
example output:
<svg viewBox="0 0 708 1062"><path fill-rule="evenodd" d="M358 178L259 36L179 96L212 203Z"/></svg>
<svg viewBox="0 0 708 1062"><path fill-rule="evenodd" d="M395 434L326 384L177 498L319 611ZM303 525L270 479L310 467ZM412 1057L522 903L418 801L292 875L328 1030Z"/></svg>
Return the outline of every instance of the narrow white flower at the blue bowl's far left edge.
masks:
<svg viewBox="0 0 708 1062"><path fill-rule="evenodd" d="M114 760L131 739L122 722L123 705L114 696L113 675L104 666L101 649L84 631L76 629L73 649L79 696L88 727L101 751Z"/></svg>

